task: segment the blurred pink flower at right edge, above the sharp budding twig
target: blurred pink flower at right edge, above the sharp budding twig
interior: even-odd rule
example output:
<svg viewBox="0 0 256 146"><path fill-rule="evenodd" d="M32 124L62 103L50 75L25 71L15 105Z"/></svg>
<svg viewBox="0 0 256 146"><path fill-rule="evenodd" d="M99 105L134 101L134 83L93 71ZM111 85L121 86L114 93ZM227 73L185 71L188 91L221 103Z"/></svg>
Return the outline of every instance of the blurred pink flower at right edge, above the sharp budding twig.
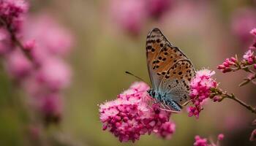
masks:
<svg viewBox="0 0 256 146"><path fill-rule="evenodd" d="M252 37L248 34L252 28L256 26L256 11L255 9L238 9L233 15L232 29L233 34L241 39L245 45L252 42Z"/></svg>

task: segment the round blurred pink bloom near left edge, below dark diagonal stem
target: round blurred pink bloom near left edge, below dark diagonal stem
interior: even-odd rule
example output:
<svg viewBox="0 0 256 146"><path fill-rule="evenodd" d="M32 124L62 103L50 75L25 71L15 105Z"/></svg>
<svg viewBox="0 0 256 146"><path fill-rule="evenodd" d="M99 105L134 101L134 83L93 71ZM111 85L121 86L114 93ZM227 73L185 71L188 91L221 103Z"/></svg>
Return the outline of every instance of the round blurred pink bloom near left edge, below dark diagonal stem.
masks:
<svg viewBox="0 0 256 146"><path fill-rule="evenodd" d="M7 54L5 62L10 75L17 80L27 77L33 69L31 61L20 50L13 50Z"/></svg>

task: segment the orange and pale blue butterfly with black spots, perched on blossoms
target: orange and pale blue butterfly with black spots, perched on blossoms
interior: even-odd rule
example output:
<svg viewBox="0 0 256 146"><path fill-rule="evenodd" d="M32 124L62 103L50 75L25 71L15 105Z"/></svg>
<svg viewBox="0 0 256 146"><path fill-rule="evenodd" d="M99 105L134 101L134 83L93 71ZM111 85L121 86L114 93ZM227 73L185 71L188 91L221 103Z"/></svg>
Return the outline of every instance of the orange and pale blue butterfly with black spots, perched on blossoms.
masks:
<svg viewBox="0 0 256 146"><path fill-rule="evenodd" d="M181 105L189 101L189 84L195 76L192 62L170 44L159 28L148 33L146 58L152 85L148 94L165 107L181 111Z"/></svg>

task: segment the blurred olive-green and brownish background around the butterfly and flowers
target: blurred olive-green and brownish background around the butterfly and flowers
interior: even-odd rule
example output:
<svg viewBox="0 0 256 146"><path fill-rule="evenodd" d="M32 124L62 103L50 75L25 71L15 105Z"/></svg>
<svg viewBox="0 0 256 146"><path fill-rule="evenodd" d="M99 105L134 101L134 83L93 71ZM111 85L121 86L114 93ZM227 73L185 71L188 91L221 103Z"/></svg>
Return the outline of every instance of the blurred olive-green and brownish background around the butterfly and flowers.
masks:
<svg viewBox="0 0 256 146"><path fill-rule="evenodd" d="M98 112L98 104L115 99L135 82L125 71L149 82L145 44L148 31L154 27L160 28L173 45L183 50L196 69L215 70L221 88L256 105L255 85L238 87L246 74L222 74L216 69L225 58L235 54L242 57L246 51L233 35L232 18L238 9L255 9L254 1L178 1L160 20L146 22L137 36L118 27L109 15L109 5L107 0L31 1L31 13L50 13L75 37L75 47L67 58L73 77L72 85L64 93L64 115L59 126L45 131L45 139L57 137L60 142L53 145L171 146L192 145L197 134L215 138L223 133L222 145L256 145L249 142L254 129L250 123L255 115L228 99L221 103L209 101L198 120L189 118L186 112L173 115L176 133L168 140L151 135L142 136L135 143L118 142L108 131L102 131ZM26 131L29 122L25 111L30 109L20 105L23 91L13 88L1 65L0 145L37 145L29 140Z"/></svg>

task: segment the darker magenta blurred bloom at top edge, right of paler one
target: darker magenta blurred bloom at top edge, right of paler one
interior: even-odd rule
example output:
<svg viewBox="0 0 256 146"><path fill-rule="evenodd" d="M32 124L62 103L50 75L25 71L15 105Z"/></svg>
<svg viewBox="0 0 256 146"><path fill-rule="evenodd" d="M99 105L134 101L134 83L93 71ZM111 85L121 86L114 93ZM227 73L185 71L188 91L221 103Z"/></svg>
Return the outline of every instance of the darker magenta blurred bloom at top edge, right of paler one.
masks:
<svg viewBox="0 0 256 146"><path fill-rule="evenodd" d="M148 0L146 1L146 9L151 17L159 18L170 10L172 3L173 0Z"/></svg>

